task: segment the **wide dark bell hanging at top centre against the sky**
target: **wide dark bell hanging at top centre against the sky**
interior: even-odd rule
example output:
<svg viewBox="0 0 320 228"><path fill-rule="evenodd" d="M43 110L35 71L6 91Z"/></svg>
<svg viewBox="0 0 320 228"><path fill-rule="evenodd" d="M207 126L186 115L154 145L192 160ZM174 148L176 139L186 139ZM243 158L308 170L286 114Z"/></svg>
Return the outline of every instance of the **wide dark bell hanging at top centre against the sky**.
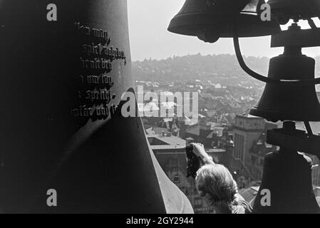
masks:
<svg viewBox="0 0 320 228"><path fill-rule="evenodd" d="M220 37L233 37L237 24L239 37L267 36L280 30L277 21L262 21L263 0L187 0L171 20L168 31L197 36L214 43Z"/></svg>

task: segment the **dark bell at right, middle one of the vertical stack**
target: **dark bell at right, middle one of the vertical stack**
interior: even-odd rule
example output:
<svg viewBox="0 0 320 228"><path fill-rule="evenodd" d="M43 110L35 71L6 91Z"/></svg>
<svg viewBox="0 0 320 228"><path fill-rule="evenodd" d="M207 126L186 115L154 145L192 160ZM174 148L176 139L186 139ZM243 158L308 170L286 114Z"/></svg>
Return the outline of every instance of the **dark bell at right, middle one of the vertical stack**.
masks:
<svg viewBox="0 0 320 228"><path fill-rule="evenodd" d="M300 80L314 78L314 58L302 55L299 47L285 47L284 54L272 58L269 78ZM250 110L270 121L320 121L320 104L315 86L267 84L257 106Z"/></svg>

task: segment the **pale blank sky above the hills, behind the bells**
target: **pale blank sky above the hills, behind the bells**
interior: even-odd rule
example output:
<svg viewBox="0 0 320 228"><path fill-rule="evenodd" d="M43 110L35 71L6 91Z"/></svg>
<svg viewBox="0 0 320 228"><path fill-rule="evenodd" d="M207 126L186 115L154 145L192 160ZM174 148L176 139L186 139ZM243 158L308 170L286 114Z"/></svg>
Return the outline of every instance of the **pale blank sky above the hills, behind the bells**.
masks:
<svg viewBox="0 0 320 228"><path fill-rule="evenodd" d="M185 0L128 0L133 61L142 61L145 58L163 59L199 52L202 55L234 53L231 38L220 38L217 43L208 44L192 36L181 36L167 31L170 19L177 14L184 2ZM270 38L241 38L242 53L245 56L267 57L282 53L283 48L269 48ZM319 56L319 48L304 48L304 53L308 56Z"/></svg>

